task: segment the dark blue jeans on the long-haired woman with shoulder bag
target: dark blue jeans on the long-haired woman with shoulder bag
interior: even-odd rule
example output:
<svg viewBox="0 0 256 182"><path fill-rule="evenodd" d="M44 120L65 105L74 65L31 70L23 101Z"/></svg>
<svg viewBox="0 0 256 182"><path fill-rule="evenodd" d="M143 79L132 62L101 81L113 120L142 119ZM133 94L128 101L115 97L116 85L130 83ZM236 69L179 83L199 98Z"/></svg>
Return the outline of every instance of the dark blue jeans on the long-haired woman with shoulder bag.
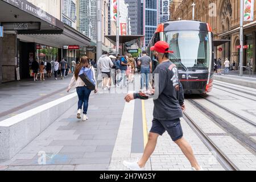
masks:
<svg viewBox="0 0 256 182"><path fill-rule="evenodd" d="M84 114L87 114L88 104L89 104L89 96L91 90L89 90L86 86L79 86L76 88L77 96L79 97L78 109L82 109L82 104L84 104Z"/></svg>

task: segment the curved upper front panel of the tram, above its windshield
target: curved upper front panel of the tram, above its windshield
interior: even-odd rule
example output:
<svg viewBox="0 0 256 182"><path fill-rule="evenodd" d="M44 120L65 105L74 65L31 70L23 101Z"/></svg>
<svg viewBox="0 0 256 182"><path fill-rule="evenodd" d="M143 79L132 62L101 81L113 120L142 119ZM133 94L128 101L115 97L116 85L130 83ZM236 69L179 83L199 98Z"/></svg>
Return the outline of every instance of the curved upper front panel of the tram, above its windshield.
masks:
<svg viewBox="0 0 256 182"><path fill-rule="evenodd" d="M196 20L179 20L163 23L163 31L197 30L212 31L208 23Z"/></svg>

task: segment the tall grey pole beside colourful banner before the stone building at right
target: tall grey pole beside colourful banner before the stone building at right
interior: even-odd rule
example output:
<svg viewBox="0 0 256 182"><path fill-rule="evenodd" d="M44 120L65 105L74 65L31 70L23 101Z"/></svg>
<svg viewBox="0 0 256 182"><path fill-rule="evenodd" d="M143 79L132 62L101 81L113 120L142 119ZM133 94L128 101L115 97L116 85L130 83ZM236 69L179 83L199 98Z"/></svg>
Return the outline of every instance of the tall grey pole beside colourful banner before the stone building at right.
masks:
<svg viewBox="0 0 256 182"><path fill-rule="evenodd" d="M243 0L240 0L240 46L239 76L243 76Z"/></svg>

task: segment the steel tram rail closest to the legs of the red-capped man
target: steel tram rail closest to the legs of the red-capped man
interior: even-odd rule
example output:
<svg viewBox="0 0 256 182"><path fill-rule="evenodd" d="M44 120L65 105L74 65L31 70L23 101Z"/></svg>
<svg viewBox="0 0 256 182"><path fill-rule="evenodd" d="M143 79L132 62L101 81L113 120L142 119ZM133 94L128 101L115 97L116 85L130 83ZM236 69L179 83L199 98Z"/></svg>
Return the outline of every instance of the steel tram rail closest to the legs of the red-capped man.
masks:
<svg viewBox="0 0 256 182"><path fill-rule="evenodd" d="M207 134L205 134L204 131L201 130L200 127L196 125L196 122L193 121L193 119L191 119L187 113L184 112L183 118L191 127L191 129L197 134L197 136L199 136L199 138L202 140L205 146L207 146L211 152L214 152L214 154L216 154L215 157L217 161L221 164L222 167L224 167L226 171L240 171L240 169L232 162L232 160L230 160L224 154L224 152L222 152L220 148L218 148L212 142L212 140L210 140Z"/></svg>

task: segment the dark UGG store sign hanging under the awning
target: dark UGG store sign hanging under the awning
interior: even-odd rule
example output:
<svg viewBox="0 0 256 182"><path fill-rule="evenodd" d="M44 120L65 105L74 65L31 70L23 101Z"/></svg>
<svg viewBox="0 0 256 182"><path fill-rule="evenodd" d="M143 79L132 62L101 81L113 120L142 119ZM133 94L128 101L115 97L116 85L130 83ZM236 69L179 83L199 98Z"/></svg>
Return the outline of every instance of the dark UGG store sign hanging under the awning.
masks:
<svg viewBox="0 0 256 182"><path fill-rule="evenodd" d="M40 22L3 22L5 30L40 30Z"/></svg>

